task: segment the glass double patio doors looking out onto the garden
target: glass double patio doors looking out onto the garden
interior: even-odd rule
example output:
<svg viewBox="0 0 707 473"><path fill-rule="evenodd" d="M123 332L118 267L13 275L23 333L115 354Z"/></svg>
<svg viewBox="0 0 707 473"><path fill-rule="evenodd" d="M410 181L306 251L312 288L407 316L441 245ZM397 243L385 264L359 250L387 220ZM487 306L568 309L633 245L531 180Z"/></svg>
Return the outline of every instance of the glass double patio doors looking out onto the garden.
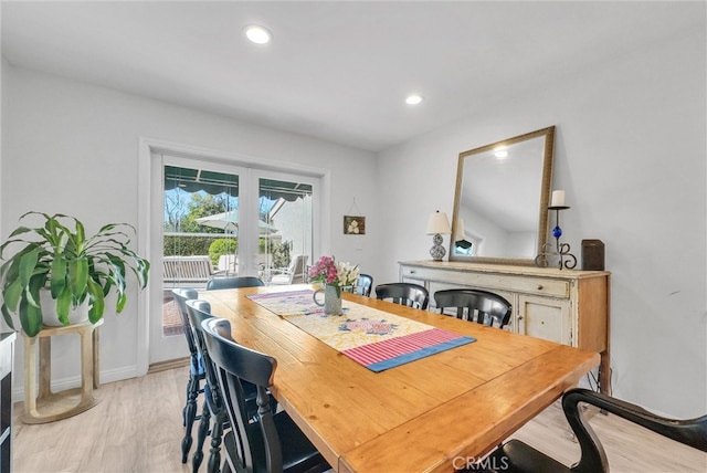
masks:
<svg viewBox="0 0 707 473"><path fill-rule="evenodd" d="M309 263L315 254L318 188L317 178L292 172L166 154L152 158L152 175L161 176L154 180L161 206L154 207L152 221L161 222L161 233L151 254L161 259L162 274L151 282L150 364L188 355L173 288L204 290L212 277L240 275L265 284L304 282L292 263Z"/></svg>

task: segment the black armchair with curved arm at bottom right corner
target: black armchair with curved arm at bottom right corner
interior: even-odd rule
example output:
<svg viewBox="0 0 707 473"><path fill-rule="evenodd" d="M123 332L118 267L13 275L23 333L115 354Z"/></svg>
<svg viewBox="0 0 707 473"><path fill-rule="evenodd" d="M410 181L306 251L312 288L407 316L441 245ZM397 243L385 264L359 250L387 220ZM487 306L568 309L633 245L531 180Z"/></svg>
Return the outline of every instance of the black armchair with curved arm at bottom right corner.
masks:
<svg viewBox="0 0 707 473"><path fill-rule="evenodd" d="M668 419L601 392L576 388L562 396L562 410L581 450L578 463L566 466L525 442L514 439L504 443L476 465L471 465L466 471L487 473L609 472L604 449L589 422L583 419L581 403L595 406L602 411L626 419L663 437L707 452L707 416L687 420Z"/></svg>

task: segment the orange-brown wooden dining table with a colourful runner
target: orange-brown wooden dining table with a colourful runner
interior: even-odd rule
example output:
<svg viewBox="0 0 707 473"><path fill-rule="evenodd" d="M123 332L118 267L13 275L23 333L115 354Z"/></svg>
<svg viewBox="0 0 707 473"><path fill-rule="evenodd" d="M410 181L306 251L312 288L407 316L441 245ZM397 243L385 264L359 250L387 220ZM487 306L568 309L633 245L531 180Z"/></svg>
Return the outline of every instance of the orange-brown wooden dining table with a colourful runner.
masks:
<svg viewBox="0 0 707 473"><path fill-rule="evenodd" d="M199 297L231 322L235 340L277 360L273 396L337 472L465 466L600 361L597 353L345 293L345 309L360 304L476 339L373 372L246 297L308 287L203 291Z"/></svg>

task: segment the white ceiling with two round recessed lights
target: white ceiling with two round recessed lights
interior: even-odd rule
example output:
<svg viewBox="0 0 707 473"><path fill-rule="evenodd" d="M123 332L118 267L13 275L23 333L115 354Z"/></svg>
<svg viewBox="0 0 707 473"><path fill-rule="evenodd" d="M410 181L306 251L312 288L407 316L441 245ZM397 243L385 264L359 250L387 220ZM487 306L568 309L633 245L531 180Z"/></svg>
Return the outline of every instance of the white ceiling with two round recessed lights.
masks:
<svg viewBox="0 0 707 473"><path fill-rule="evenodd" d="M245 41L251 23L273 41ZM704 24L703 2L675 1L3 1L2 54L380 151Z"/></svg>

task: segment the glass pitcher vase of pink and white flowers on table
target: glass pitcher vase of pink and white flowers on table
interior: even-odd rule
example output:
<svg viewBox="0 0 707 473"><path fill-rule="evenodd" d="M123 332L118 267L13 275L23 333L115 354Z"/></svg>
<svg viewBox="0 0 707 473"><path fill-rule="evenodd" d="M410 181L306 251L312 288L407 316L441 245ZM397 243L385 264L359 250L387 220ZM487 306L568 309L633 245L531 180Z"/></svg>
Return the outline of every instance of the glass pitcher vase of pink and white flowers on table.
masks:
<svg viewBox="0 0 707 473"><path fill-rule="evenodd" d="M324 313L341 315L341 288L356 284L358 280L358 265L336 262L334 256L321 256L309 269L309 280L320 283L324 288L315 291L314 302L324 305ZM317 299L317 295L324 292L324 303Z"/></svg>

